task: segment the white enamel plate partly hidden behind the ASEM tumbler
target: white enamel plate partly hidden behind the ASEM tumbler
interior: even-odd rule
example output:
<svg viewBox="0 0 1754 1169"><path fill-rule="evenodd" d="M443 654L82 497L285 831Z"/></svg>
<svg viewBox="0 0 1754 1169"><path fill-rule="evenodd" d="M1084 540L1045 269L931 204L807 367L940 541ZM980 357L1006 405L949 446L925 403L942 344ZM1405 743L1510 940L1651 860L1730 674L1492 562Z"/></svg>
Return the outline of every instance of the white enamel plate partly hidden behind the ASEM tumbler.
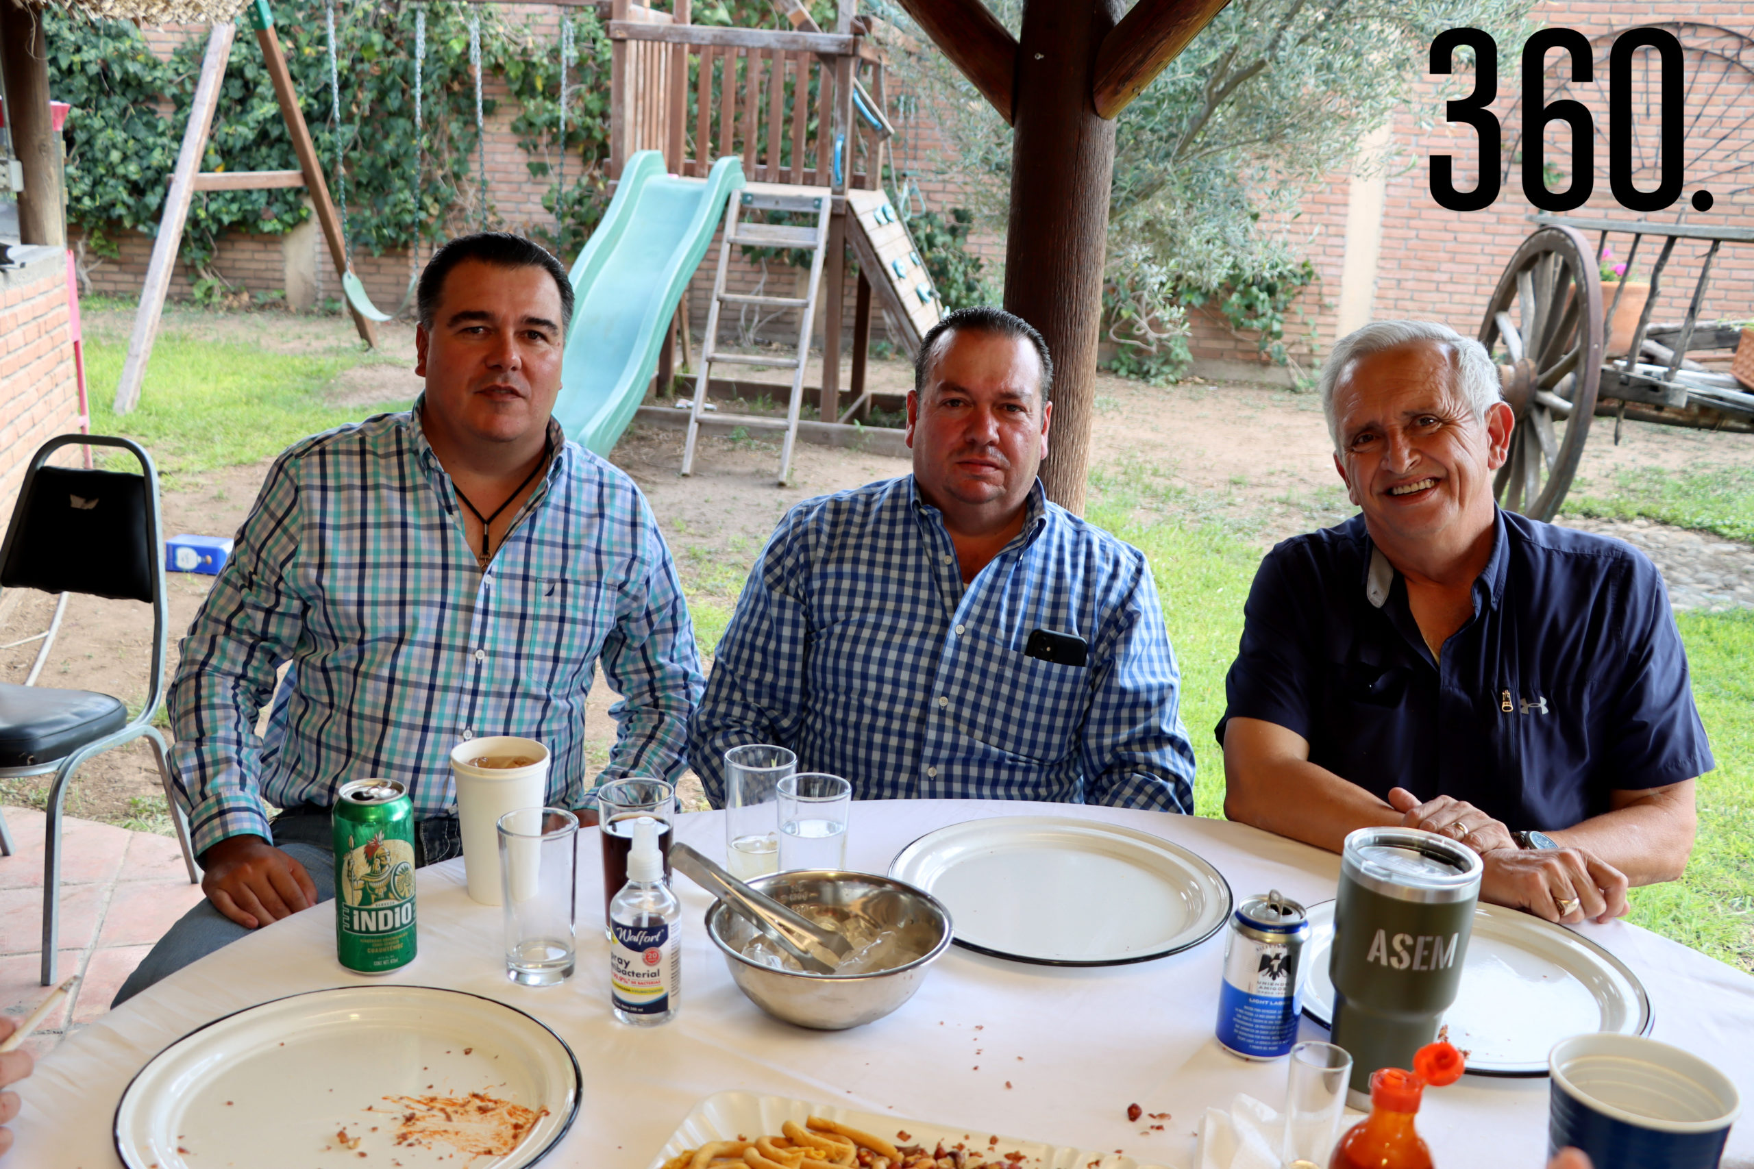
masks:
<svg viewBox="0 0 1754 1169"><path fill-rule="evenodd" d="M1303 1013L1333 1022L1333 901L1310 908L1308 983ZM1651 1031L1651 997L1626 964L1573 934L1519 910L1482 904L1461 967L1456 1003L1444 1013L1449 1041L1480 1076L1545 1076L1552 1045L1596 1031Z"/></svg>

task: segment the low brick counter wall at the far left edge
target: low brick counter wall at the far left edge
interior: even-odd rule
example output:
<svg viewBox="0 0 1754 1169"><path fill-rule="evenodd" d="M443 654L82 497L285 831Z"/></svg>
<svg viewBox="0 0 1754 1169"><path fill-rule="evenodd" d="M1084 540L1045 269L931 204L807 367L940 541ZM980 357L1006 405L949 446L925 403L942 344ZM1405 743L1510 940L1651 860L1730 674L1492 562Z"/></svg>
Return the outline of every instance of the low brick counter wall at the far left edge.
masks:
<svg viewBox="0 0 1754 1169"><path fill-rule="evenodd" d="M14 256L25 265L0 270L0 524L37 447L79 429L67 252L25 247Z"/></svg>

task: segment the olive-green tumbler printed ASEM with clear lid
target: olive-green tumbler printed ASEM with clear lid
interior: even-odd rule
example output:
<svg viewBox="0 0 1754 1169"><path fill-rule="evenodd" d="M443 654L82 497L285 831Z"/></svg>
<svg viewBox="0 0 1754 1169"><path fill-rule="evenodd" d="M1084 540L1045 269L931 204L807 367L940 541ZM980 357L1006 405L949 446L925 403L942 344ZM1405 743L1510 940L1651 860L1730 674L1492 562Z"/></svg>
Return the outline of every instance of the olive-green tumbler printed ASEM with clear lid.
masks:
<svg viewBox="0 0 1754 1169"><path fill-rule="evenodd" d="M1354 1106L1370 1108L1370 1073L1412 1067L1437 1038L1461 987L1484 871L1479 854L1437 832L1361 827L1345 838L1328 973Z"/></svg>

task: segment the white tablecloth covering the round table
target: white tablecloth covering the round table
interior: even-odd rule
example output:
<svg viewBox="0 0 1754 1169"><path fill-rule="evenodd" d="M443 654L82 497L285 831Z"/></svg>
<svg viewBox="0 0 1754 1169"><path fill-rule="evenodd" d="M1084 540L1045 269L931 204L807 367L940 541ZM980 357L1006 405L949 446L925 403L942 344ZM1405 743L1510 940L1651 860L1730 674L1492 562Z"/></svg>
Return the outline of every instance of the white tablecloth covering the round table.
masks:
<svg viewBox="0 0 1754 1169"><path fill-rule="evenodd" d="M1238 824L1000 801L854 804L849 868L882 873L923 832L1019 813L1079 815L1156 832L1207 857L1238 897L1275 887L1310 904L1331 897L1338 878L1337 857ZM721 813L681 817L677 838L710 857L724 855ZM1273 1106L1284 1097L1284 1062L1244 1062L1212 1038L1223 932L1168 959L1098 969L1024 966L952 946L895 1015L854 1031L814 1032L768 1018L737 990L700 925L709 896L677 878L686 931L682 1013L667 1027L623 1027L609 1013L607 945L591 929L602 906L595 832L579 857L581 945L572 981L526 988L505 980L500 910L468 899L461 861L421 871L421 953L391 976L491 995L537 1015L572 1045L584 1069L582 1108L547 1164L644 1169L702 1097L744 1088L1187 1165L1207 1106L1226 1104L1237 1092ZM333 922L328 906L298 913L72 1036L23 1085L25 1111L7 1164L114 1165L116 1102L156 1052L256 1003L354 981L382 985L335 962ZM1656 1010L1654 1038L1722 1067L1754 1108L1754 978L1635 925L1586 925L1582 932L1643 980ZM1308 1020L1303 1027L1305 1038L1324 1038ZM1126 1120L1135 1101L1173 1115L1165 1132L1140 1136L1142 1125ZM1547 1143L1547 1081L1468 1076L1426 1094L1419 1127L1438 1164L1533 1169L1544 1164ZM1724 1164L1754 1167L1754 1118L1733 1130Z"/></svg>

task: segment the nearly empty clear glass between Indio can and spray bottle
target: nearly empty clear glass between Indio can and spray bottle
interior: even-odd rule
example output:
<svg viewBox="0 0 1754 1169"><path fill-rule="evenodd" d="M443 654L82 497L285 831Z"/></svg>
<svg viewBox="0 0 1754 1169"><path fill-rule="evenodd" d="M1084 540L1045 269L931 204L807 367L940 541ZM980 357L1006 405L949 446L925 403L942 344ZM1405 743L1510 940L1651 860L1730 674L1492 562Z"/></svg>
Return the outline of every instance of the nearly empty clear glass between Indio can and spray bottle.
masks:
<svg viewBox="0 0 1754 1169"><path fill-rule="evenodd" d="M517 808L500 817L500 904L505 976L526 987L572 978L579 817L565 808Z"/></svg>

